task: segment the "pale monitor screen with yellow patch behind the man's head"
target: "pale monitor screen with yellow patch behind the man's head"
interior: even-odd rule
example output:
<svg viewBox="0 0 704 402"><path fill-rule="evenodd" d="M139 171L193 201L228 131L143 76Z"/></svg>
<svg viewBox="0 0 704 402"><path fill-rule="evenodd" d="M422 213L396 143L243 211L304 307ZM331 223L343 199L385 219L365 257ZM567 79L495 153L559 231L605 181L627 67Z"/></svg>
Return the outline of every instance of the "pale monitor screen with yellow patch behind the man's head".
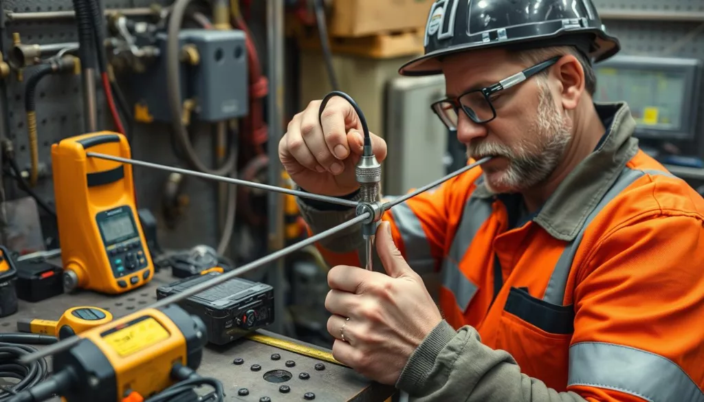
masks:
<svg viewBox="0 0 704 402"><path fill-rule="evenodd" d="M597 68L596 101L627 101L640 126L680 130L684 73L675 71Z"/></svg>

